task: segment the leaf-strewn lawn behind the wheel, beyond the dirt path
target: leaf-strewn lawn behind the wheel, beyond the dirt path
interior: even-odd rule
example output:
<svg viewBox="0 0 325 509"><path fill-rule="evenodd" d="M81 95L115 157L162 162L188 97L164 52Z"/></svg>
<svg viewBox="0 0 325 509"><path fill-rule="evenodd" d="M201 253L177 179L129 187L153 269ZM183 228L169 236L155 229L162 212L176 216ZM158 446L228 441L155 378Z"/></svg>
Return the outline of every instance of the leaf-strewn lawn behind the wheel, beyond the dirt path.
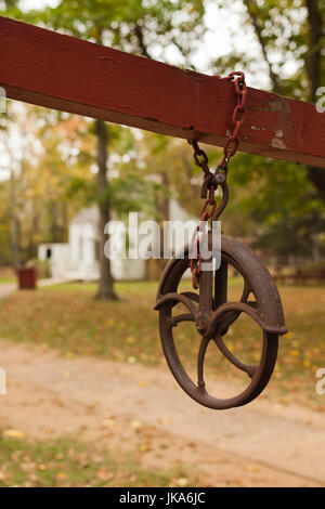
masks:
<svg viewBox="0 0 325 509"><path fill-rule="evenodd" d="M190 289L190 282L186 286ZM231 299L238 297L237 286L233 280ZM92 284L69 284L11 295L1 301L0 338L48 343L64 355L101 355L131 364L162 362L157 312L153 310L157 284L117 284L118 302L95 301L95 288ZM289 332L280 339L275 380L281 383L276 386L282 391L303 390L316 401L315 373L325 367L325 287L284 286L280 292ZM174 331L181 360L195 377L199 342L193 324L179 325ZM261 332L248 317L240 316L226 336L226 344L242 361L257 363ZM208 348L207 376L238 377L239 371L213 347ZM317 401L320 404L320 396Z"/></svg>

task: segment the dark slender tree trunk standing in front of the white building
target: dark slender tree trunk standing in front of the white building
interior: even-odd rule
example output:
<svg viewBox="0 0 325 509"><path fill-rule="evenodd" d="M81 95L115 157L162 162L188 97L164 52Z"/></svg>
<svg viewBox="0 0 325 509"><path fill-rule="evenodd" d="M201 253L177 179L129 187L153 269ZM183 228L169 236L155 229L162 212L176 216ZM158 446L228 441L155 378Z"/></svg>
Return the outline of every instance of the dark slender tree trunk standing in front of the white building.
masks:
<svg viewBox="0 0 325 509"><path fill-rule="evenodd" d="M95 132L98 135L98 198L100 210L100 283L96 299L116 300L114 291L114 279L110 271L110 260L105 257L104 246L106 235L104 233L105 224L110 220L109 199L107 196L107 146L108 132L103 120L95 120Z"/></svg>

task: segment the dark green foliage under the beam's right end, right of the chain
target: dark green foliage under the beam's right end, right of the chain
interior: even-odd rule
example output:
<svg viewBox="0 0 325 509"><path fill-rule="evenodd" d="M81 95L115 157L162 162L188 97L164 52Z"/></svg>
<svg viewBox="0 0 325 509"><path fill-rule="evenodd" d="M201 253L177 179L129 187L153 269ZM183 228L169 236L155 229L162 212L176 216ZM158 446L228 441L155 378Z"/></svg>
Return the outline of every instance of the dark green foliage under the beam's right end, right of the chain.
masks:
<svg viewBox="0 0 325 509"><path fill-rule="evenodd" d="M229 180L234 196L227 223L235 234L246 231L243 221L239 229L232 221L240 211L255 230L257 246L278 255L311 256L315 236L324 231L325 205L303 166L240 154Z"/></svg>

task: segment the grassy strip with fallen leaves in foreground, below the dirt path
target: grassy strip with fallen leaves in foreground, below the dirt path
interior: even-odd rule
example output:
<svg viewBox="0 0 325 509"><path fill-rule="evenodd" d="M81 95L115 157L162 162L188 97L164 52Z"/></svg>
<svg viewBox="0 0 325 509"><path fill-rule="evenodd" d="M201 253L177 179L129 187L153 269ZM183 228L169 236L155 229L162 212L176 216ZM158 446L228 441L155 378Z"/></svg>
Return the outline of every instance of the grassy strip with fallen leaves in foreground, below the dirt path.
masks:
<svg viewBox="0 0 325 509"><path fill-rule="evenodd" d="M0 438L0 487L202 485L183 467L148 469L95 444L81 444L70 438L32 443L5 436L9 432L15 434L15 430L8 430Z"/></svg>

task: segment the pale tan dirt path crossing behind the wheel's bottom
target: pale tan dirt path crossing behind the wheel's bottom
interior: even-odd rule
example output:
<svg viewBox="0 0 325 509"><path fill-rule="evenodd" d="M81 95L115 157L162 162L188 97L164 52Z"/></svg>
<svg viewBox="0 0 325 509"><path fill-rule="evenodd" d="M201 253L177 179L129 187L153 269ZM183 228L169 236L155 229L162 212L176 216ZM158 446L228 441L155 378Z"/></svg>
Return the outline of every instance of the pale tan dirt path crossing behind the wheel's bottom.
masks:
<svg viewBox="0 0 325 509"><path fill-rule="evenodd" d="M63 358L9 341L0 348L1 428L38 439L73 433L153 467L190 464L209 485L325 485L324 414L268 396L213 412L192 402L166 366Z"/></svg>

